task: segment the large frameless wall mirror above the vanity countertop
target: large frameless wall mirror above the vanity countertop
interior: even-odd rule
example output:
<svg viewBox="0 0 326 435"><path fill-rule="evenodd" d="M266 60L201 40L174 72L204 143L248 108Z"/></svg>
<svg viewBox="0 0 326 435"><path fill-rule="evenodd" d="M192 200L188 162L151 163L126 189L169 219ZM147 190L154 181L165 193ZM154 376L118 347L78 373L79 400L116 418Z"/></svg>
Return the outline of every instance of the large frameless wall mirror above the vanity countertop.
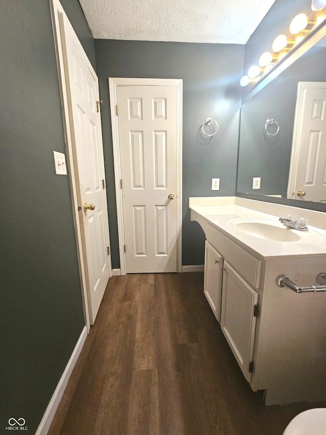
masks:
<svg viewBox="0 0 326 435"><path fill-rule="evenodd" d="M326 36L243 103L237 193L326 211Z"/></svg>

